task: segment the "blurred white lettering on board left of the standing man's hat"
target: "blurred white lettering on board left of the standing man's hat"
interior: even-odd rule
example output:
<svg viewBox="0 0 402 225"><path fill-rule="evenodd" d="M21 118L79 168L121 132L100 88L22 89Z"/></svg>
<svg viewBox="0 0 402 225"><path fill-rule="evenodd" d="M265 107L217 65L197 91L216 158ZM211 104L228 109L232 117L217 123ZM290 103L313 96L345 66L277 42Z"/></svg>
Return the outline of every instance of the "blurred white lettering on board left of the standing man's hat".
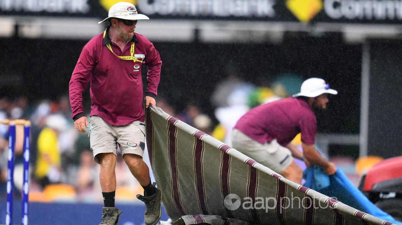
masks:
<svg viewBox="0 0 402 225"><path fill-rule="evenodd" d="M0 10L18 12L89 12L88 0L0 0Z"/></svg>

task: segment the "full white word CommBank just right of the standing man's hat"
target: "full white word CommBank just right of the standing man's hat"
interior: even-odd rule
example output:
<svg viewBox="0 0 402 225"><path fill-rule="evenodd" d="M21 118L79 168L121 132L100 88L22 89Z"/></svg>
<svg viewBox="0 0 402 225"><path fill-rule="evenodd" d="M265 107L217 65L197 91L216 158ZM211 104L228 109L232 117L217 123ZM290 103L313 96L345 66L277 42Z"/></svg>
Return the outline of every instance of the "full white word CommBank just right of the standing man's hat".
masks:
<svg viewBox="0 0 402 225"><path fill-rule="evenodd" d="M275 16L275 0L138 0L144 14L181 16Z"/></svg>

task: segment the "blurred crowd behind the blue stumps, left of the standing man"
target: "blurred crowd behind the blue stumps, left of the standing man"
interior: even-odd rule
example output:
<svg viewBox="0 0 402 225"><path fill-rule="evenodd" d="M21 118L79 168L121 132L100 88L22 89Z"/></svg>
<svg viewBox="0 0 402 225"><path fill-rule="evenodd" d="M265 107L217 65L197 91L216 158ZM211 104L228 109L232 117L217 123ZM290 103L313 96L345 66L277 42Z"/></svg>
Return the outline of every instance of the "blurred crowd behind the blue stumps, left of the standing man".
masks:
<svg viewBox="0 0 402 225"><path fill-rule="evenodd" d="M68 96L57 101L28 102L26 96L0 98L0 120L31 120L30 195L41 193L51 184L66 184L76 196L94 189L96 166L92 160L87 134L74 129ZM6 188L8 127L0 126L0 189ZM14 182L16 196L22 188L23 127L16 127ZM1 192L4 198L6 191ZM35 194L33 194L33 197ZM40 200L43 196L38 196Z"/></svg>

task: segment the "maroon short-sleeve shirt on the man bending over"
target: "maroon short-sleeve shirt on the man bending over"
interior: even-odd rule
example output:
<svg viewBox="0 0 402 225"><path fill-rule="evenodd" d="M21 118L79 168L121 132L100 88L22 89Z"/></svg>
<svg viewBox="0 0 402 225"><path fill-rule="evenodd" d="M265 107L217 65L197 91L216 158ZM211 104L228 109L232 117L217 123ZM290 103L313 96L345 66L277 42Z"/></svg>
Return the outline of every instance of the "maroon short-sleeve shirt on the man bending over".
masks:
<svg viewBox="0 0 402 225"><path fill-rule="evenodd" d="M316 127L316 115L307 102L285 98L252 108L234 128L261 144L277 139L285 146L298 133L303 143L314 144Z"/></svg>

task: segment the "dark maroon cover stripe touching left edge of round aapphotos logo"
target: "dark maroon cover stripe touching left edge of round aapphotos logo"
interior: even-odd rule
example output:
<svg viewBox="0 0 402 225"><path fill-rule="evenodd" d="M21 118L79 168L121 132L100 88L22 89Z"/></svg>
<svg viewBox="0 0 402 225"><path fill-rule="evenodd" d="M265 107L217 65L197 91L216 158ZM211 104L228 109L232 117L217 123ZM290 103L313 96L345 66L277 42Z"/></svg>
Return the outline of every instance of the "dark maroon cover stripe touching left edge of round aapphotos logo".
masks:
<svg viewBox="0 0 402 225"><path fill-rule="evenodd" d="M229 187L229 173L230 173L230 161L232 157L226 152L231 149L228 145L221 145L219 150L222 151L222 163L221 163L221 170L220 170L220 179L221 179L221 190L222 190L222 205L224 206L224 199L226 196L230 194L230 187ZM226 212L226 217L234 218L233 212L227 209L224 206L224 210Z"/></svg>

